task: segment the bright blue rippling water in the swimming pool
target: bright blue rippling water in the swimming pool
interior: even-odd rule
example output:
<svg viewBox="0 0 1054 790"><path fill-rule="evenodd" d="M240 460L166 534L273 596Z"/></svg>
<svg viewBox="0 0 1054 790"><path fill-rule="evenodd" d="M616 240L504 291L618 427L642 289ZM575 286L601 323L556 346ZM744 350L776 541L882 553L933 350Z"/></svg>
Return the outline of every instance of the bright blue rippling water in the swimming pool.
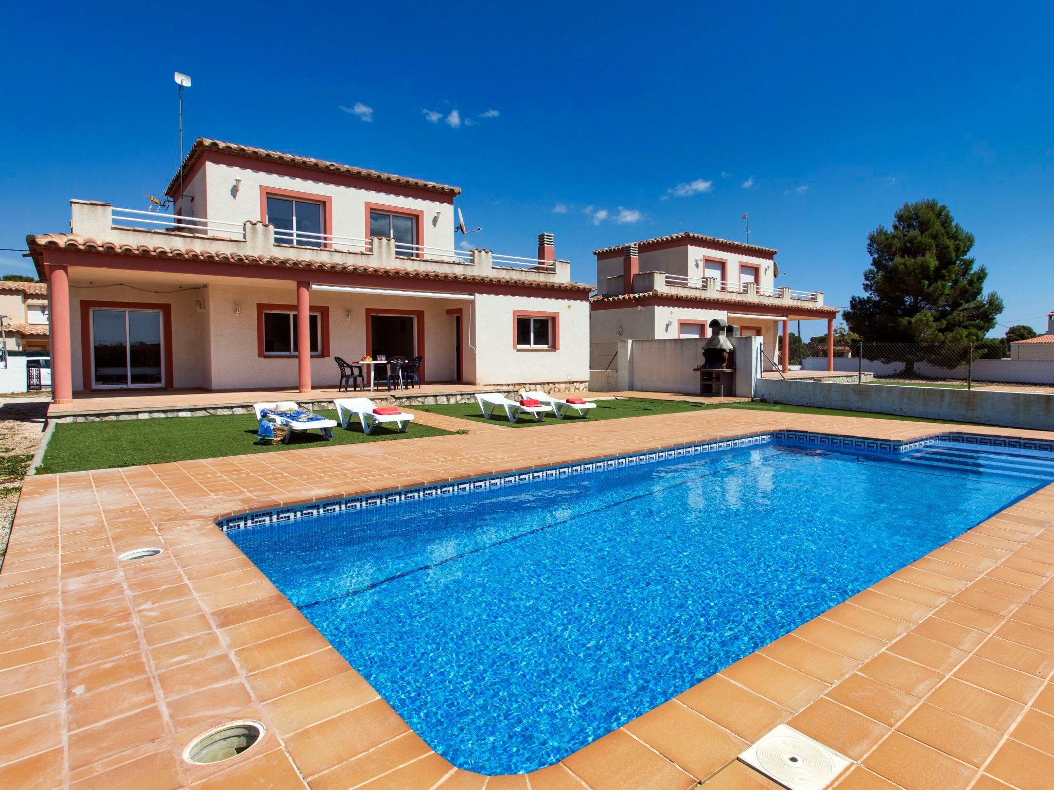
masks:
<svg viewBox="0 0 1054 790"><path fill-rule="evenodd" d="M454 765L550 765L1054 479L766 443L231 538Z"/></svg>

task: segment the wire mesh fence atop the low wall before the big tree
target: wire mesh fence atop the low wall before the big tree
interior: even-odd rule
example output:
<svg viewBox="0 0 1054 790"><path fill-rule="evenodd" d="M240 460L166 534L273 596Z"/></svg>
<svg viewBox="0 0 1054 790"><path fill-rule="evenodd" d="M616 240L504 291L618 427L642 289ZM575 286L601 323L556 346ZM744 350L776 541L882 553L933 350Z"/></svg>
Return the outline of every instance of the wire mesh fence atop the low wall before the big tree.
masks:
<svg viewBox="0 0 1054 790"><path fill-rule="evenodd" d="M854 340L836 344L834 352L835 371L856 373L860 383L1054 392L1054 343L1010 347L1001 340L939 344ZM826 371L826 344L792 348L789 364Z"/></svg>

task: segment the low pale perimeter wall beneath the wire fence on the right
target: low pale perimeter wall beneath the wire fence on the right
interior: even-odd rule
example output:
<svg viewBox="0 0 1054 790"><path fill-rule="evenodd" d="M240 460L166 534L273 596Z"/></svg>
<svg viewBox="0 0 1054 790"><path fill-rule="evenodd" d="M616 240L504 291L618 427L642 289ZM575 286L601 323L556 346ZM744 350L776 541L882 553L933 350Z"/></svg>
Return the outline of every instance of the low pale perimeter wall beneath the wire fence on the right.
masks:
<svg viewBox="0 0 1054 790"><path fill-rule="evenodd" d="M758 397L774 403L1054 430L1054 395L774 378L759 379L755 388Z"/></svg>

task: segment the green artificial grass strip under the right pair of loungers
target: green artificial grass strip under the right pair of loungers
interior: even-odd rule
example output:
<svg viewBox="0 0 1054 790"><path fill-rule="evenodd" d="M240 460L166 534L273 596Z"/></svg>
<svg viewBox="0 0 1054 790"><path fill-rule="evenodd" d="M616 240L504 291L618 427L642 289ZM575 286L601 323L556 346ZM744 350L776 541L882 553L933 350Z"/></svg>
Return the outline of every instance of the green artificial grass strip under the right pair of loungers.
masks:
<svg viewBox="0 0 1054 790"><path fill-rule="evenodd" d="M643 417L647 414L674 414L676 412L697 412L708 411L710 409L750 409L762 412L786 412L788 414L828 414L837 417L870 417L872 419L900 419L913 422L949 422L942 419L925 419L922 417L902 417L898 414L873 414L872 412L852 412L842 409L818 409L811 406L785 406L783 403L763 403L760 401L741 401L738 403L695 403L687 400L657 400L651 398L618 398L610 400L597 400L596 409L590 409L588 417L568 416L559 419L551 414L544 417L541 422L533 417L524 416L519 422L509 422L505 417L505 412L499 412L491 419L486 419L480 414L480 407L475 403L445 403L438 406L415 406L414 409L423 412L435 412L446 414L450 417L462 417L464 419L475 420L476 422L492 422L508 428L528 428L530 426L551 426L562 422L581 422L586 419L619 419L621 417ZM973 424L973 423L963 423Z"/></svg>

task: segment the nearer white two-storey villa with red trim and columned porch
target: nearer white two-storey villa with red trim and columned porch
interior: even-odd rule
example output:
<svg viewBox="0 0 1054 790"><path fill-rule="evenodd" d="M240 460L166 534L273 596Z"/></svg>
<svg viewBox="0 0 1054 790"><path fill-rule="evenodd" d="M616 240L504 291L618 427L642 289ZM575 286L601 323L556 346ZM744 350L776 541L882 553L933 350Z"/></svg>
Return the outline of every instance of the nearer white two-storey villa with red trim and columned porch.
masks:
<svg viewBox="0 0 1054 790"><path fill-rule="evenodd" d="M460 193L199 138L172 215L72 200L69 233L27 238L51 291L56 402L309 392L337 382L335 356L366 354L423 356L427 382L584 390L592 285L549 234L534 256L458 250Z"/></svg>

